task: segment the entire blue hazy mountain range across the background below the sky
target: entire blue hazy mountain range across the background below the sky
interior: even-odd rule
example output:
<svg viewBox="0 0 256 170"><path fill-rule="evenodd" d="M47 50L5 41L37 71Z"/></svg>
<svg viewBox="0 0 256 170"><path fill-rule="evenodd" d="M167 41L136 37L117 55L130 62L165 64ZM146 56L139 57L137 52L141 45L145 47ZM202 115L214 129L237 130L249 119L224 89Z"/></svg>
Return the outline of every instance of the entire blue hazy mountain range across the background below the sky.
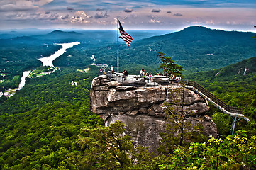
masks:
<svg viewBox="0 0 256 170"><path fill-rule="evenodd" d="M256 56L256 43L252 38L255 33L213 30L201 26L185 28L179 32L157 35L150 38L152 32L130 31L135 35L130 47L119 40L119 62L121 69L137 73L139 67L147 67L150 72L160 65L158 52L177 61L184 67L184 73L218 69L229 64L240 62ZM155 32L166 33L166 32ZM141 35L140 35L141 34ZM144 38L144 39L141 39ZM62 31L54 30L43 35L19 36L0 39L0 67L17 65L23 69L30 66L39 57L46 57L60 49L54 42L74 42L81 44L68 49L67 53L55 60L56 66L84 66L91 64L91 56L96 64L112 64L116 66L116 31L88 30ZM10 53L11 52L11 53ZM21 52L23 55L21 55ZM74 57L68 57L68 56ZM23 64L23 62L26 62ZM38 67L40 62L36 62ZM14 69L14 68L13 68Z"/></svg>

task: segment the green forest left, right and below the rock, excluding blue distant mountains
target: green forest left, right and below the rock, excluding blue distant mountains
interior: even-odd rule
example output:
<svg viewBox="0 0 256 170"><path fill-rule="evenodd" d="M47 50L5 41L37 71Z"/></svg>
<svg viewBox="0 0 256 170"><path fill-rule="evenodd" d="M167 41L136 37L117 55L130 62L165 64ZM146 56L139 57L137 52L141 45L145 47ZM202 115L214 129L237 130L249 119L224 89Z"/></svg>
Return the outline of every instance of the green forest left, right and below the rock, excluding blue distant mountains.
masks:
<svg viewBox="0 0 256 170"><path fill-rule="evenodd" d="M253 66L252 61L255 58L245 62ZM232 103L227 103L243 107L250 122L240 120L237 132L230 136L230 118L211 107L208 114L223 137L177 145L172 152L153 157L148 148L135 148L129 135L121 136L123 123L105 128L101 118L90 112L90 84L99 68L90 66L88 73L77 69L85 67L62 67L50 75L27 79L21 91L1 103L1 169L255 169L255 72L223 77L226 81L216 79L214 73L231 72L228 67L188 75L223 101L229 96ZM200 81L198 75L207 79ZM242 79L243 84L234 85Z"/></svg>

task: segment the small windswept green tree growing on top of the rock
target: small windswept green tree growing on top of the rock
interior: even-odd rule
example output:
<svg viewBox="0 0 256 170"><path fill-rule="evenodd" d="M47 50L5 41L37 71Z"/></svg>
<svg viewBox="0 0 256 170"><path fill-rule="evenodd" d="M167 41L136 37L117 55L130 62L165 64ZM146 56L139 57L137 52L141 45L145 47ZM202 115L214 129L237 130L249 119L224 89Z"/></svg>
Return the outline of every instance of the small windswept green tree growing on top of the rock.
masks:
<svg viewBox="0 0 256 170"><path fill-rule="evenodd" d="M179 66L178 64L175 64L176 61L172 60L172 57L167 57L164 53L158 52L158 57L160 57L160 60L162 61L162 64L160 65L160 69L164 70L164 73L167 74L173 74L175 76L182 76L182 66Z"/></svg>

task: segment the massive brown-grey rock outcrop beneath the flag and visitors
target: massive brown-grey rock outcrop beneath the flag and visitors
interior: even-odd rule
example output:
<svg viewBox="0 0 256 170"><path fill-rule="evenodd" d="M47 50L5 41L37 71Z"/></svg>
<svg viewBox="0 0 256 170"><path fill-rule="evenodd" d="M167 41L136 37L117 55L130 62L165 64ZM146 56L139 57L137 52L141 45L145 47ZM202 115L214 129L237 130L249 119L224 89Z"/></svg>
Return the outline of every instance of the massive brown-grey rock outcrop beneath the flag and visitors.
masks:
<svg viewBox="0 0 256 170"><path fill-rule="evenodd" d="M150 146L154 152L159 146L160 132L165 129L166 106L163 103L179 109L180 101L184 101L186 121L192 125L204 125L206 134L216 137L216 125L205 115L207 103L194 91L181 89L177 84L129 86L128 82L110 81L105 75L96 77L91 83L91 111L99 114L106 126L121 120L135 146Z"/></svg>

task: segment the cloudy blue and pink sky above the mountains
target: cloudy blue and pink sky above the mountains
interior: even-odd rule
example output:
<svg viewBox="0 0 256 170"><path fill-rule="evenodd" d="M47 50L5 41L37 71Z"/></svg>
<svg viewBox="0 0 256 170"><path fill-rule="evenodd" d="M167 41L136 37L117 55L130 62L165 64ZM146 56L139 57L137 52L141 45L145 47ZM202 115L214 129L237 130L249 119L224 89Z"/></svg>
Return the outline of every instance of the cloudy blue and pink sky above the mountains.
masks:
<svg viewBox="0 0 256 170"><path fill-rule="evenodd" d="M0 29L182 30L206 26L256 32L256 0L0 0Z"/></svg>

